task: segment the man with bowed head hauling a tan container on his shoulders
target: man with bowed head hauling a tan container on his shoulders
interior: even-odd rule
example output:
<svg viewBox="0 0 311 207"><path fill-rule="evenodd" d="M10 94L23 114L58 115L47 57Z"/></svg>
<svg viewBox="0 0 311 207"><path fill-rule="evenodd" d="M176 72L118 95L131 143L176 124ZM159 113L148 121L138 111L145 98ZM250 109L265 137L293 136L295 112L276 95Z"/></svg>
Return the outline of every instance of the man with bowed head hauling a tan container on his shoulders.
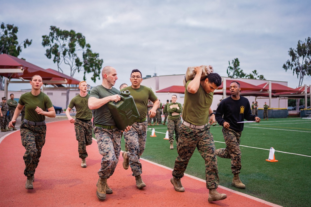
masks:
<svg viewBox="0 0 311 207"><path fill-rule="evenodd" d="M205 160L206 187L209 189L208 201L222 200L226 194L217 192L219 183L215 144L210 132L210 124L215 122L215 114L210 108L214 90L221 85L221 77L210 73L206 79L201 79L202 68L195 67L196 74L193 80L186 83L185 99L183 105L183 122L179 128L177 145L178 157L175 160L173 178L171 183L175 191L185 191L180 178L183 177L188 162L197 147ZM211 118L208 121L208 114Z"/></svg>

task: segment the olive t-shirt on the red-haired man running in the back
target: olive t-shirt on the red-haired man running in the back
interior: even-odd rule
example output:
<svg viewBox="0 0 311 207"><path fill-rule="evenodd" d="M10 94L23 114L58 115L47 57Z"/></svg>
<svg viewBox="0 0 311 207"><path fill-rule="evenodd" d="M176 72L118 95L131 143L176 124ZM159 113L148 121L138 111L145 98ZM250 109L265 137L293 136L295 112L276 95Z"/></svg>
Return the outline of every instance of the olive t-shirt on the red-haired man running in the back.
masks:
<svg viewBox="0 0 311 207"><path fill-rule="evenodd" d="M78 119L86 119L90 120L92 119L92 110L89 109L88 106L88 100L89 100L90 94L87 94L85 97L81 97L80 94L73 97L73 99L70 101L68 107L69 108L76 108L77 114L76 118Z"/></svg>

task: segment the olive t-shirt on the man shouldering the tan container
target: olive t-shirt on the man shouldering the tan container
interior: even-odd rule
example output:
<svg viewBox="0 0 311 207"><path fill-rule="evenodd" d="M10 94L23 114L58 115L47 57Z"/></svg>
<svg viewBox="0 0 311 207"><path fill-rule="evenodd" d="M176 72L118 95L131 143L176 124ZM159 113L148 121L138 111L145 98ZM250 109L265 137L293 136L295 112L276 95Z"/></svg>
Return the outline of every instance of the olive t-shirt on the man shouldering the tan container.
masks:
<svg viewBox="0 0 311 207"><path fill-rule="evenodd" d="M183 104L183 120L194 125L204 125L208 122L209 109L213 101L214 92L206 93L200 84L196 93L187 91L189 80L186 83Z"/></svg>

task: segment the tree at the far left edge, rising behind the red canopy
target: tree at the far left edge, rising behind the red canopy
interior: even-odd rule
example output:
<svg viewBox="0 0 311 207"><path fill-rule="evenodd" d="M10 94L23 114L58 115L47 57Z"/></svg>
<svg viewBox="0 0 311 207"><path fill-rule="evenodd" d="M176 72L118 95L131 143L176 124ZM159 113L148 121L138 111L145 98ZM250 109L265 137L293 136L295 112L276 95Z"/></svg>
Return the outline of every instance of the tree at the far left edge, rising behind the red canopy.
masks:
<svg viewBox="0 0 311 207"><path fill-rule="evenodd" d="M24 48L30 46L32 40L25 39L21 44L17 41L18 27L14 25L1 24L0 30L0 54L8 54L12 56L19 56L22 50L22 45ZM0 76L0 90L4 89L4 77Z"/></svg>

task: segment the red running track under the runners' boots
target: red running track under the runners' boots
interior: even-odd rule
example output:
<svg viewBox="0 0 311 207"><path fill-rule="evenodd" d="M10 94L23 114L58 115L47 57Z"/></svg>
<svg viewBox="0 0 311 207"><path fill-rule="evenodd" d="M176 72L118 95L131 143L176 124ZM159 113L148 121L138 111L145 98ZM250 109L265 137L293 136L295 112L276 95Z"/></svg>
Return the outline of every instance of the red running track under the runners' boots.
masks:
<svg viewBox="0 0 311 207"><path fill-rule="evenodd" d="M3 139L4 138L4 139ZM2 142L1 142L2 141ZM19 131L0 139L0 206L278 206L219 187L225 200L208 202L208 190L202 179L182 178L185 192L177 192L170 183L171 169L141 159L146 187L137 189L131 169L124 170L120 156L109 187L113 194L101 201L96 196L97 171L101 155L93 140L87 146L87 168L81 168L74 125L69 121L47 124L46 142L35 173L34 189L25 189L23 155Z"/></svg>

